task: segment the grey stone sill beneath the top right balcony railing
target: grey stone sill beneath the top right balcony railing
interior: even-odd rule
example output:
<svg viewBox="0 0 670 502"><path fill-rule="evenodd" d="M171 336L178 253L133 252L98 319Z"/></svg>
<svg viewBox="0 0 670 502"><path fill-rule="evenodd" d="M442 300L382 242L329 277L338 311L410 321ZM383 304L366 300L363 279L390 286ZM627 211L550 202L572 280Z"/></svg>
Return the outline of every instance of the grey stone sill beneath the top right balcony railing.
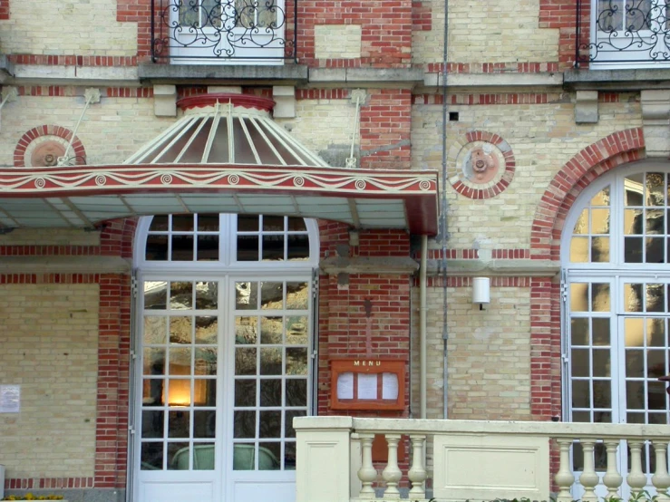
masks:
<svg viewBox="0 0 670 502"><path fill-rule="evenodd" d="M570 70L563 73L564 87L574 91L640 91L670 85L667 68L631 70Z"/></svg>

